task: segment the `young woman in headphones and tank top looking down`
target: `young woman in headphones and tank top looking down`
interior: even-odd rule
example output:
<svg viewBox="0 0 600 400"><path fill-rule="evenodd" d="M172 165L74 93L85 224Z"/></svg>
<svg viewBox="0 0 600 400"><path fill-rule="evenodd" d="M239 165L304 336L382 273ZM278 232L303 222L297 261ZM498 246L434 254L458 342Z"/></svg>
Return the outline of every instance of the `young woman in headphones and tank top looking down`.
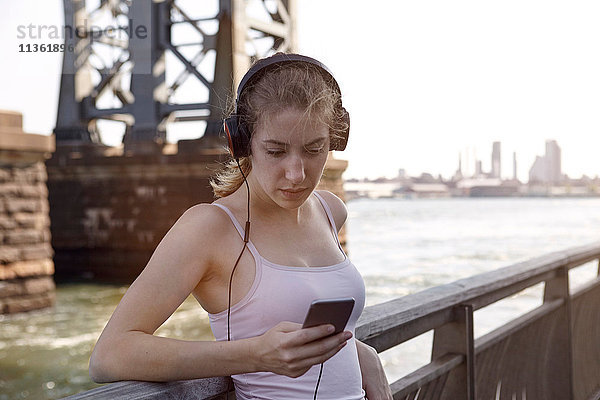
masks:
<svg viewBox="0 0 600 400"><path fill-rule="evenodd" d="M365 291L337 239L346 207L315 191L348 136L335 79L308 57L260 60L224 125L234 160L212 182L218 199L158 245L98 339L92 379L231 375L238 400L391 399L376 351L353 337ZM217 340L154 336L190 293ZM339 297L356 299L346 331L302 328L313 300Z"/></svg>

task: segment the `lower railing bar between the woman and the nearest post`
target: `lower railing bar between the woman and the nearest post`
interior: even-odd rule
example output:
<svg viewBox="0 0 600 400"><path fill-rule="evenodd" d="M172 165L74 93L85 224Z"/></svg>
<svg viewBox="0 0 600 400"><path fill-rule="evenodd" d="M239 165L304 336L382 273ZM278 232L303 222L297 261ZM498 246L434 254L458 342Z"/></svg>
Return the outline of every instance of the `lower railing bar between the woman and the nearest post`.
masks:
<svg viewBox="0 0 600 400"><path fill-rule="evenodd" d="M390 384L392 394L406 396L451 371L465 361L461 354L446 354Z"/></svg>

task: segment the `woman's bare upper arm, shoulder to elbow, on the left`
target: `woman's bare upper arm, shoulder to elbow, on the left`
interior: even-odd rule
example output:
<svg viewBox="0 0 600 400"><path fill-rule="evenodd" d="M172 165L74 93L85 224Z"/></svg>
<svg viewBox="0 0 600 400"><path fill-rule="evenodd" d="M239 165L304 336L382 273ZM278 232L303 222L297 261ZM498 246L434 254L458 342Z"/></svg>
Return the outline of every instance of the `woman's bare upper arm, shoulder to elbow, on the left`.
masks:
<svg viewBox="0 0 600 400"><path fill-rule="evenodd" d="M226 235L228 219L221 214L217 207L199 204L179 217L123 296L103 335L131 330L152 334L158 329L218 262L217 242Z"/></svg>

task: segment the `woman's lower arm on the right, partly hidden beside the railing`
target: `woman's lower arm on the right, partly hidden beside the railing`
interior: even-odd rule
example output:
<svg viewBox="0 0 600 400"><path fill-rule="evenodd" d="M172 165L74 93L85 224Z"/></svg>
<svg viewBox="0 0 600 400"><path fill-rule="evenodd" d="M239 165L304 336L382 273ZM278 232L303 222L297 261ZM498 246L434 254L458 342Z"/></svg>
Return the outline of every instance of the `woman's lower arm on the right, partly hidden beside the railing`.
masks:
<svg viewBox="0 0 600 400"><path fill-rule="evenodd" d="M362 374L362 386L368 400L392 400L390 384L385 376L377 351L363 342L356 341L358 362Z"/></svg>

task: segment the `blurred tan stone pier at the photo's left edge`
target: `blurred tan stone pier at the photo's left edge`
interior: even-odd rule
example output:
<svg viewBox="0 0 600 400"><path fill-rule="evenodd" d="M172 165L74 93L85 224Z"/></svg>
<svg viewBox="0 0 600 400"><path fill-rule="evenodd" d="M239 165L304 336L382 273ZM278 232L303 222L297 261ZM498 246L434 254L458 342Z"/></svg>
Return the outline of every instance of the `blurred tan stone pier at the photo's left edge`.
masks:
<svg viewBox="0 0 600 400"><path fill-rule="evenodd" d="M0 111L0 313L54 303L44 161L54 138L22 131L20 113Z"/></svg>

